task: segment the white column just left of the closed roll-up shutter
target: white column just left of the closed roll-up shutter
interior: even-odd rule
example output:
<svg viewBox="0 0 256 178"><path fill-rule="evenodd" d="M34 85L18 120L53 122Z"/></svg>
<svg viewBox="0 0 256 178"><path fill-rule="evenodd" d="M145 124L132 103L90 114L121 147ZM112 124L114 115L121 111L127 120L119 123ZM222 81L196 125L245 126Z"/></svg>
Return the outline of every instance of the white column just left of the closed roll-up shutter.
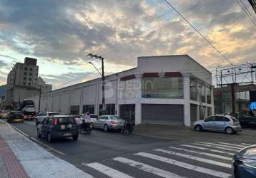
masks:
<svg viewBox="0 0 256 178"><path fill-rule="evenodd" d="M143 74L137 73L136 76L136 88L137 88L137 97L135 103L135 125L142 123L142 76Z"/></svg>

